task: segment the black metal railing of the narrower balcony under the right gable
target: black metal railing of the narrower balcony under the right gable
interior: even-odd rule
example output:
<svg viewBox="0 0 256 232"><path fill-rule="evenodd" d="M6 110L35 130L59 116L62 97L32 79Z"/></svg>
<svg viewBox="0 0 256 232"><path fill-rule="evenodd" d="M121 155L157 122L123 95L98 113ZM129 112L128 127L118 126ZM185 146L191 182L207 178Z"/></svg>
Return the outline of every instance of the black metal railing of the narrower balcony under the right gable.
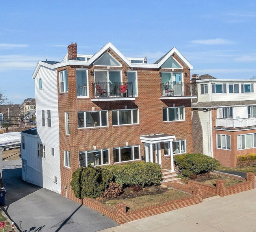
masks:
<svg viewBox="0 0 256 232"><path fill-rule="evenodd" d="M191 83L161 83L161 96L192 96Z"/></svg>

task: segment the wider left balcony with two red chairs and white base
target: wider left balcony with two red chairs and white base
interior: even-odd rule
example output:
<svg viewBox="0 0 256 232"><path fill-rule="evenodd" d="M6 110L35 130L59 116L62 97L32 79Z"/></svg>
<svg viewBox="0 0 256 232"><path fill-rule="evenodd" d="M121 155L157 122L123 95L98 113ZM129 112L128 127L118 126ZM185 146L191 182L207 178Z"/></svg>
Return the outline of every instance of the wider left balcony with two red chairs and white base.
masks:
<svg viewBox="0 0 256 232"><path fill-rule="evenodd" d="M96 82L92 84L92 101L135 100L132 82Z"/></svg>

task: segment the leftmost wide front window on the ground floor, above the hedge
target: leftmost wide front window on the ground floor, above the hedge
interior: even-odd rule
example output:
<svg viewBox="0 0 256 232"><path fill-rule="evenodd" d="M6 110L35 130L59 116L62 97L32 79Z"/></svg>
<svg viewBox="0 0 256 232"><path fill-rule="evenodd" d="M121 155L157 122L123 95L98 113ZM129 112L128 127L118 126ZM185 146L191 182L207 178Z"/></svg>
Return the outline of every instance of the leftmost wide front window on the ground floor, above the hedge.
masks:
<svg viewBox="0 0 256 232"><path fill-rule="evenodd" d="M80 167L109 164L109 149L82 151L79 153Z"/></svg>

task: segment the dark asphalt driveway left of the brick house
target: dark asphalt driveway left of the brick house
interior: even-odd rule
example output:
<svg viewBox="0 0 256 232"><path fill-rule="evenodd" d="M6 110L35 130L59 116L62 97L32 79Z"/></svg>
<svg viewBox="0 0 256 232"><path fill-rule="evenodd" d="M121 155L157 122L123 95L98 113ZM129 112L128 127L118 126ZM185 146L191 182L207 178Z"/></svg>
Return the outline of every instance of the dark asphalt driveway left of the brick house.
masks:
<svg viewBox="0 0 256 232"><path fill-rule="evenodd" d="M5 212L22 232L93 232L117 226L91 208L24 182L21 160L3 161L3 181L6 188Z"/></svg>

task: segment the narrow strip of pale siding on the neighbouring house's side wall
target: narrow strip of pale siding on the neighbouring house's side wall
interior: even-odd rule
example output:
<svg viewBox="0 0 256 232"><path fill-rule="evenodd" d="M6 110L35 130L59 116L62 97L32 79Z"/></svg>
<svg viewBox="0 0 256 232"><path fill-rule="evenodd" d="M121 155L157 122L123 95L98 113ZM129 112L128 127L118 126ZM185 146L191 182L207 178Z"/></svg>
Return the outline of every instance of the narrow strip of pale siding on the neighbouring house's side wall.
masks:
<svg viewBox="0 0 256 232"><path fill-rule="evenodd" d="M210 112L204 112L202 108L198 109L200 122L202 125L202 137L203 137L203 153L204 155L211 156L211 128L210 128Z"/></svg>

